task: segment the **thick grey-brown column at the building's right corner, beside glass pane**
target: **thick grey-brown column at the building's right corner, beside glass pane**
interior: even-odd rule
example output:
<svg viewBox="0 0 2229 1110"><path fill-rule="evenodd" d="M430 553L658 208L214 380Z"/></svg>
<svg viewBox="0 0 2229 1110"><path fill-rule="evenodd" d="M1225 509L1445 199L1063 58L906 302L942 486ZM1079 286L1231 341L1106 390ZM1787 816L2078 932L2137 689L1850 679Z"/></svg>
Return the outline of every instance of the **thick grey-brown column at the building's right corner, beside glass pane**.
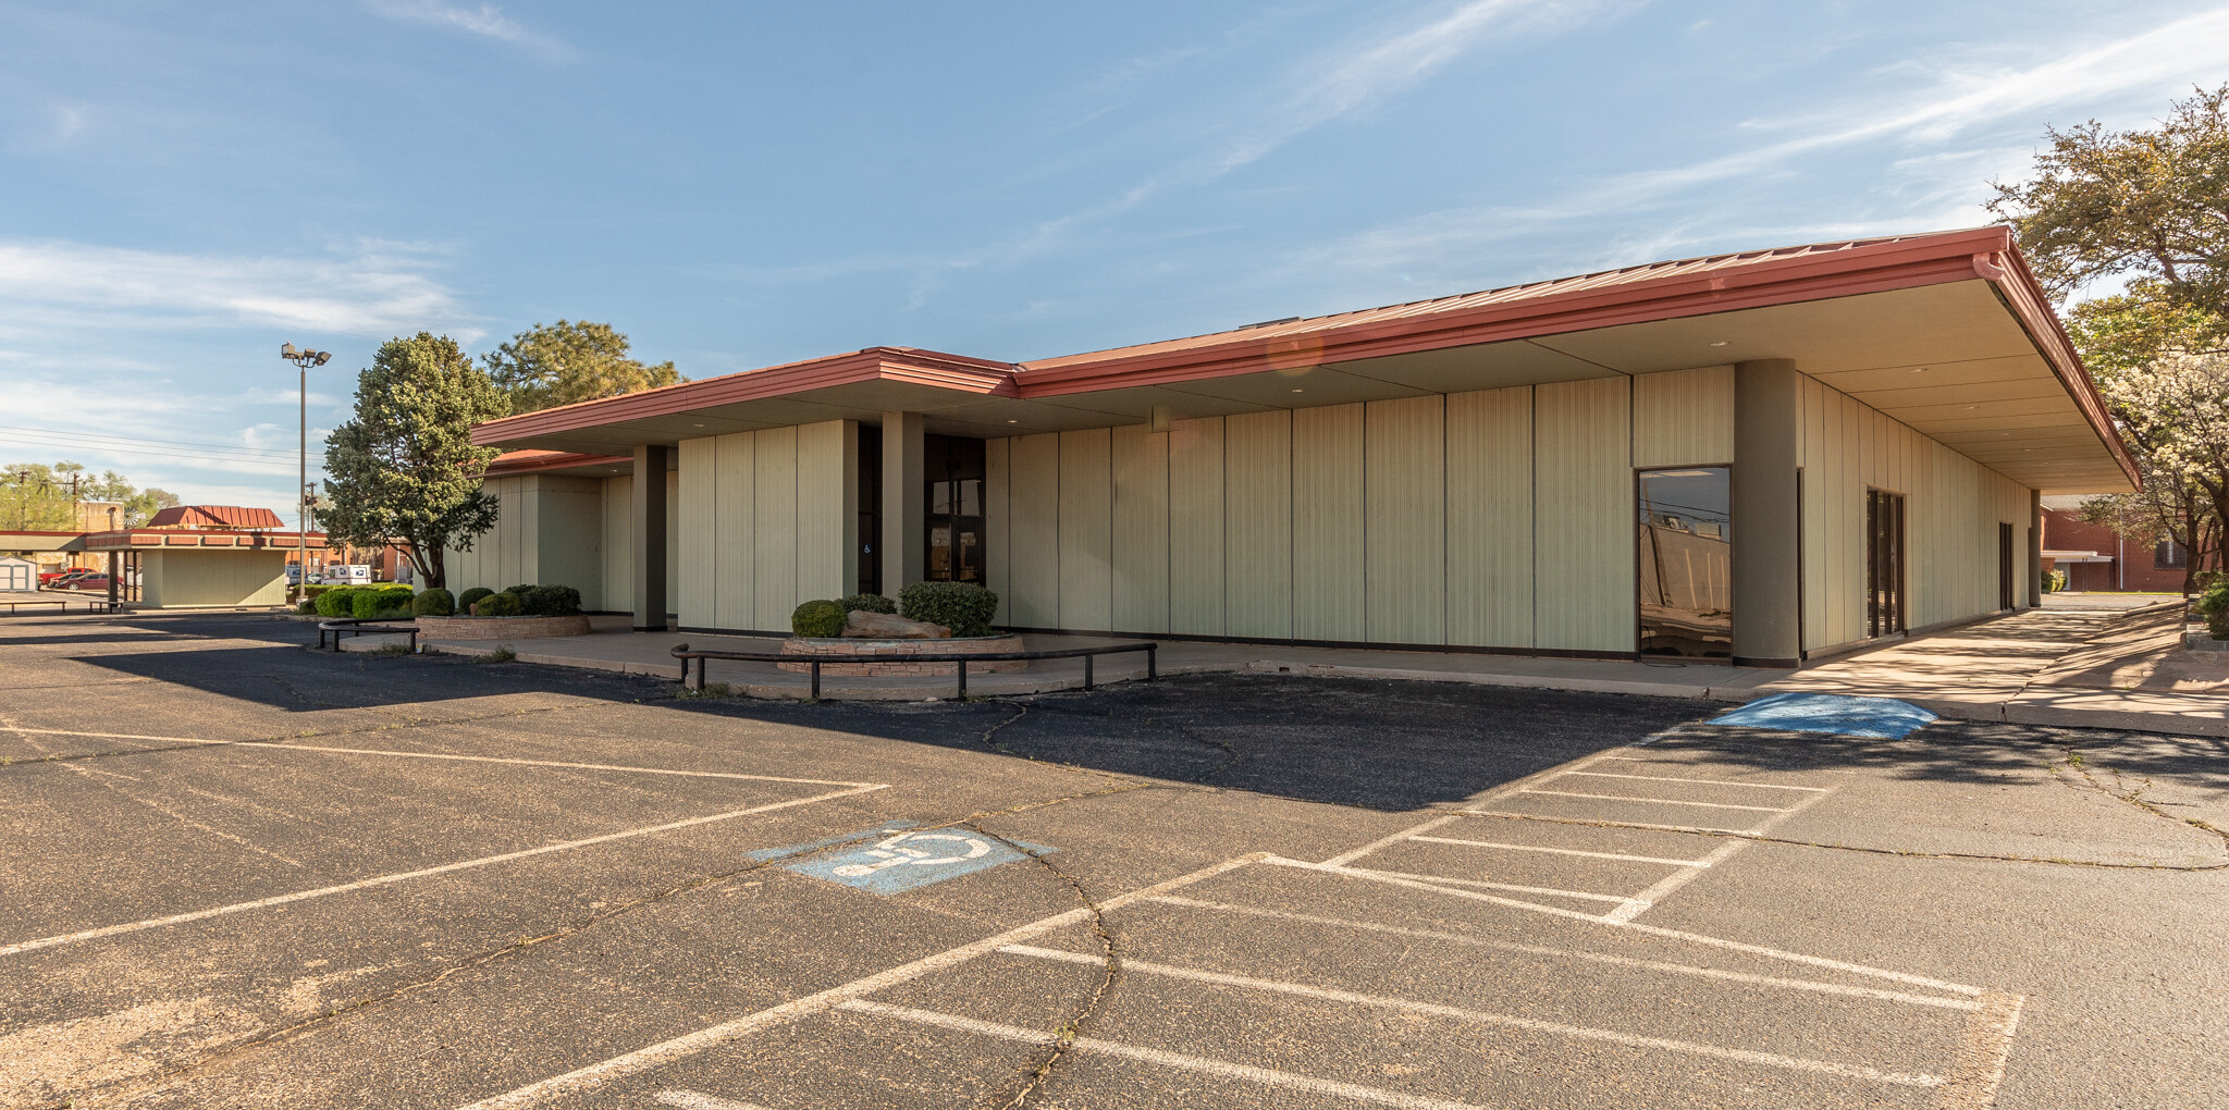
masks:
<svg viewBox="0 0 2229 1110"><path fill-rule="evenodd" d="M1790 359L1734 366L1734 662L1803 660L1803 374Z"/></svg>

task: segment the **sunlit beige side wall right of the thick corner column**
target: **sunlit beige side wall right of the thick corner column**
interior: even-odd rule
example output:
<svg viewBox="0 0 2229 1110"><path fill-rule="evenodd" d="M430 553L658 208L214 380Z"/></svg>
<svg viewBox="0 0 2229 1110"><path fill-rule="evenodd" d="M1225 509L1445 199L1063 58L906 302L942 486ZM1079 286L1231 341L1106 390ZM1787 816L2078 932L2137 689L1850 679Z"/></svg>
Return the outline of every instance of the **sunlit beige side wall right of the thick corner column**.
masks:
<svg viewBox="0 0 2229 1110"><path fill-rule="evenodd" d="M2026 597L2028 490L1879 410L1803 383L1803 649L1866 635L1866 488L1901 493L1912 629L1997 608L1997 524L2013 526Z"/></svg>

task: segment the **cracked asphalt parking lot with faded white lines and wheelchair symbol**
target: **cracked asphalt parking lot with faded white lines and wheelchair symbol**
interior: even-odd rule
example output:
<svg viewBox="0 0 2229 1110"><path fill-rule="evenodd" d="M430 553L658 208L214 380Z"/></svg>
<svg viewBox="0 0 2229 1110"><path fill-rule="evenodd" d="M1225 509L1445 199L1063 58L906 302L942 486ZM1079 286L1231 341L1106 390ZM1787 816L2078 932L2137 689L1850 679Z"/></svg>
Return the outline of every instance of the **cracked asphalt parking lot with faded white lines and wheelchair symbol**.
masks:
<svg viewBox="0 0 2229 1110"><path fill-rule="evenodd" d="M2229 1106L2222 740L0 624L0 1106Z"/></svg>

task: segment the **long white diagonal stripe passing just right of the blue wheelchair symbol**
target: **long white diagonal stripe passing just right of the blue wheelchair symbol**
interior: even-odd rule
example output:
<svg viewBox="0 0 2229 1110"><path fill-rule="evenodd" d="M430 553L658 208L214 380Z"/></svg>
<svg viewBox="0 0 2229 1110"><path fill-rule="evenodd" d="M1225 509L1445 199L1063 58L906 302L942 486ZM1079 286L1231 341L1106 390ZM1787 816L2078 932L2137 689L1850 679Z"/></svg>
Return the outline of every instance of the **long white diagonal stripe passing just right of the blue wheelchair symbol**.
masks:
<svg viewBox="0 0 2229 1110"><path fill-rule="evenodd" d="M1184 874L1184 876L1170 878L1166 883L1155 883L1150 887L1139 887L1139 889L1132 889L1128 894L1117 894L1117 896L1099 903L1097 909L1099 912L1121 909L1123 905L1130 905L1130 903L1135 903L1139 898L1152 898L1155 894L1168 894L1172 889L1188 887L1188 885L1199 883L1204 878L1215 878L1215 876L1219 876L1224 872L1233 872L1233 869L1246 867L1248 863L1257 863L1259 858L1262 856L1239 856L1235 860L1224 860L1224 863L1217 863L1213 867L1201 867L1201 869L1197 869L1193 874ZM1052 914L1050 918L1036 918L1036 921L1032 921L1028 925L1016 925L1016 927L1012 927L1008 932L1001 932L996 936L985 936L985 938L974 941L974 943L965 943L965 945L958 945L958 947L947 947L947 950L943 950L943 952L938 952L934 956L923 956L923 958L912 961L912 963L901 963L901 965L889 967L885 972L876 972L876 974L869 974L869 976L863 976L863 978L854 978L849 983L840 983L840 985L827 987L823 992L807 994L802 999L791 999L791 1001L787 1001L782 1005L776 1005L776 1007L769 1007L769 1010L760 1010L756 1014L744 1014L744 1016L740 1016L736 1021L722 1021L718 1025L707 1025L707 1028L702 1028L698 1032L687 1032L687 1034L675 1036L671 1041L660 1041L655 1045L644 1045L644 1048L637 1048L633 1052L624 1052L620 1057L611 1057L606 1061L591 1063L586 1068L575 1068L571 1072L555 1074L555 1077L542 1079L537 1083L528 1083L528 1085L517 1088L517 1090L506 1090L504 1094L495 1094L495 1097L481 1099L477 1103L461 1106L457 1110L497 1110L497 1108L515 1108L515 1106L535 1106L535 1103L539 1103L544 1099L555 1099L559 1094L577 1094L577 1092L584 1092L584 1090L593 1090L593 1088L600 1088L600 1085L611 1083L615 1079L626 1079L631 1074L642 1074L642 1072L649 1072L653 1068L664 1068L664 1065L669 1065L673 1061L695 1057L698 1052L704 1052L704 1050L711 1050L711 1048L720 1048L724 1043L738 1041L742 1036L751 1036L756 1032L771 1030L776 1025L785 1025L785 1023L802 1019L802 1016L811 1016L811 1014L820 1014L820 1012L827 1012L827 1010L836 1010L845 1001L854 1001L854 999L860 999L865 994L874 994L878 990L887 990L887 987L894 987L898 983L907 983L912 978L921 978L921 976L925 976L929 972L941 972L945 967L956 967L956 965L967 963L967 961L972 961L972 958L976 958L976 956L981 956L985 952L996 952L996 950L1001 950L1005 945L1030 941L1030 938L1043 936L1043 934L1048 934L1052 929L1061 929L1061 927L1068 927L1068 925L1077 925L1081 921L1090 921L1090 916L1092 916L1092 907L1077 907L1077 909L1068 909L1065 914Z"/></svg>

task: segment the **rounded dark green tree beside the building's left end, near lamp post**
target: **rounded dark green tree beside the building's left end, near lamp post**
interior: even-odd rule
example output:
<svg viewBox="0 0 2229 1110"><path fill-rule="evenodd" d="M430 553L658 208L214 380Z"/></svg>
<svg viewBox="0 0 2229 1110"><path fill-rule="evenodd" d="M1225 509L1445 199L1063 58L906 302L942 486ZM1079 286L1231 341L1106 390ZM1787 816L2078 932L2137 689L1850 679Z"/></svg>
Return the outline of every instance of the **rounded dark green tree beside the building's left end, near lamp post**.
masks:
<svg viewBox="0 0 2229 1110"><path fill-rule="evenodd" d="M325 437L325 533L354 546L401 542L428 588L446 586L446 548L473 551L495 526L479 488L495 448L473 426L504 397L450 337L388 339L357 377L357 415Z"/></svg>

